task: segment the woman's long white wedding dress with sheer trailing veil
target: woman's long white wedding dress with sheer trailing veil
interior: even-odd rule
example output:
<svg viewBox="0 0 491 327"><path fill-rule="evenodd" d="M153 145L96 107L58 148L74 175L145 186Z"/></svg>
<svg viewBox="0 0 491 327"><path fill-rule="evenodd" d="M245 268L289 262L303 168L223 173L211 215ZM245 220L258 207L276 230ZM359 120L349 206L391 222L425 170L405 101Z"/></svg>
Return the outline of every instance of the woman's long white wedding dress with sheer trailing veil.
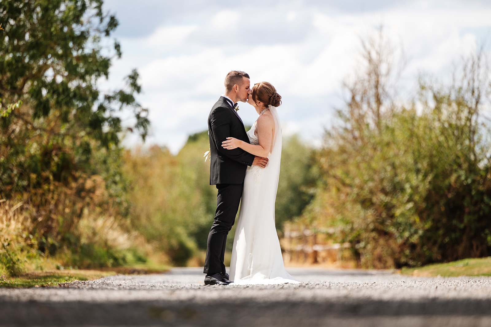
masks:
<svg viewBox="0 0 491 327"><path fill-rule="evenodd" d="M274 224L281 126L276 108L270 105L269 110L275 127L273 151L268 155L266 168L247 167L230 262L229 275L233 285L300 283L285 270ZM252 126L247 136L251 144L258 145L254 130L255 126Z"/></svg>

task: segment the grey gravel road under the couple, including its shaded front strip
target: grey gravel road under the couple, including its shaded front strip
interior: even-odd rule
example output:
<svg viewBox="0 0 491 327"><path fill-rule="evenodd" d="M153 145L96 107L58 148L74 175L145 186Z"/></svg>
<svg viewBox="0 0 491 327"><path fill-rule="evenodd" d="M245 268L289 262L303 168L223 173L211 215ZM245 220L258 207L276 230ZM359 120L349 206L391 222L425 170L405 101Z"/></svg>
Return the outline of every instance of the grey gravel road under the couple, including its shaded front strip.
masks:
<svg viewBox="0 0 491 327"><path fill-rule="evenodd" d="M0 289L1 326L491 326L491 277L289 268L303 284L205 286L202 268Z"/></svg>

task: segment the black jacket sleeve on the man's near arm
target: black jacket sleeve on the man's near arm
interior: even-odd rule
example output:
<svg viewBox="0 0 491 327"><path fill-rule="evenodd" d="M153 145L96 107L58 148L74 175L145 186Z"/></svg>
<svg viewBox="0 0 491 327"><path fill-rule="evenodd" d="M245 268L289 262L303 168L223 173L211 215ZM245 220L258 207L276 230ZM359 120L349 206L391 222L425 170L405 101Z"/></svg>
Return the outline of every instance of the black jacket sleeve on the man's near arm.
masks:
<svg viewBox="0 0 491 327"><path fill-rule="evenodd" d="M213 131L215 144L217 145L217 150L232 160L238 161L247 166L251 166L252 162L254 161L254 154L250 154L241 148L226 150L221 146L221 143L225 141L227 137L230 137L230 118L226 110L229 109L218 107L212 112L210 117L211 128Z"/></svg>

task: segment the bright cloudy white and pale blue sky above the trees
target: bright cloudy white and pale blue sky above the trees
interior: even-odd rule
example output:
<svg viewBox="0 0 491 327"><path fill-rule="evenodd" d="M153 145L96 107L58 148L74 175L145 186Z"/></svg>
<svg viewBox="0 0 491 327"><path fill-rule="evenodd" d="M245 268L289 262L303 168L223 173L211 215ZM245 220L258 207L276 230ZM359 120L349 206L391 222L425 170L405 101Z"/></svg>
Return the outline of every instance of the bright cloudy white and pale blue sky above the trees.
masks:
<svg viewBox="0 0 491 327"><path fill-rule="evenodd" d="M282 96L283 135L319 146L343 105L343 81L360 69L360 40L379 26L404 50L406 90L420 74L445 78L491 42L489 0L106 0L105 10L119 20L114 36L123 56L101 88L121 87L136 68L143 89L137 100L152 123L146 144L173 153L208 128L231 70L245 71L252 84L271 82ZM254 108L239 106L252 125ZM124 143L139 142L129 135Z"/></svg>

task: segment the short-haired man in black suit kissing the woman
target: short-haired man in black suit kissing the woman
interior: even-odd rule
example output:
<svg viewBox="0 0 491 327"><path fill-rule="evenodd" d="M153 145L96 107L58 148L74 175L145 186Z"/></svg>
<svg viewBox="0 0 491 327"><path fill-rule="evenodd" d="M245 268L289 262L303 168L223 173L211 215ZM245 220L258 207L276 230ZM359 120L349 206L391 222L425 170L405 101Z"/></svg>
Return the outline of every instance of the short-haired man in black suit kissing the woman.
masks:
<svg viewBox="0 0 491 327"><path fill-rule="evenodd" d="M206 249L205 285L228 285L229 276L223 263L227 234L234 225L235 215L244 187L247 166L266 167L267 158L254 156L240 148L221 147L227 137L249 143L246 128L237 114L237 102L246 102L250 93L249 75L231 71L225 76L225 94L218 99L208 116L210 138L210 185L218 189L217 211Z"/></svg>

